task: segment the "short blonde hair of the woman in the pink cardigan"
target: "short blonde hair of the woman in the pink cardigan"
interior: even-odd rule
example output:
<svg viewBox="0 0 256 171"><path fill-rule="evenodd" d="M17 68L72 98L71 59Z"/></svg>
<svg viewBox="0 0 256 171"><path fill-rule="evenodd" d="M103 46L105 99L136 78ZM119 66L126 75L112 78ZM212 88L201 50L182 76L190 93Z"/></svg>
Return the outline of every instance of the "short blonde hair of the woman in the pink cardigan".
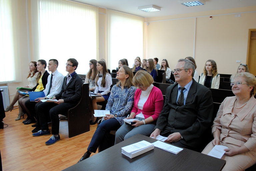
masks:
<svg viewBox="0 0 256 171"><path fill-rule="evenodd" d="M144 85L145 87L149 87L154 82L153 77L143 70L139 70L132 80L134 85Z"/></svg>

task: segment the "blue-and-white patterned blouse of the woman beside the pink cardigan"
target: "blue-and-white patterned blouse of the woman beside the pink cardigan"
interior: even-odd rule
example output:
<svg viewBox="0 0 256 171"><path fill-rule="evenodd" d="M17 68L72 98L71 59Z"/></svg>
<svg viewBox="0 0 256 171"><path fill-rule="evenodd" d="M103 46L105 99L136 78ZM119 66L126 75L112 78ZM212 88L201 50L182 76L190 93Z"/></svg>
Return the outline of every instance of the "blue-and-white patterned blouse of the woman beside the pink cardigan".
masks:
<svg viewBox="0 0 256 171"><path fill-rule="evenodd" d="M110 114L117 115L115 118L120 125L124 124L123 119L131 113L135 91L136 88L134 86L131 86L130 88L125 86L122 91L120 84L118 87L114 85L111 89L106 110L110 110Z"/></svg>

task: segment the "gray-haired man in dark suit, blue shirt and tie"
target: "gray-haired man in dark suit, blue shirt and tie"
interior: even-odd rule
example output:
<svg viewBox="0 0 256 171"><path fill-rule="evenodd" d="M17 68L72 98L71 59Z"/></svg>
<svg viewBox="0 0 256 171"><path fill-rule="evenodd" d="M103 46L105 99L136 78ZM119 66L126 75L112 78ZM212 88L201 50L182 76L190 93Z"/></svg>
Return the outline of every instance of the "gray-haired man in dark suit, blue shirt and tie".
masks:
<svg viewBox="0 0 256 171"><path fill-rule="evenodd" d="M193 79L191 61L180 59L172 73L176 83L166 90L163 110L150 137L160 134L168 137L165 142L198 151L203 133L211 126L212 93Z"/></svg>

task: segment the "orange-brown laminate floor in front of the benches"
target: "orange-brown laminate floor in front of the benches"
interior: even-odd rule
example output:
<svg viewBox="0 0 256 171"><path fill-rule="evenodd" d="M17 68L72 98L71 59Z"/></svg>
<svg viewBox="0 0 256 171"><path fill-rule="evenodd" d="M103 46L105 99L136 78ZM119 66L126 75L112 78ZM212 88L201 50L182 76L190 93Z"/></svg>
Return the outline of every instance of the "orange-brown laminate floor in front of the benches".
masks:
<svg viewBox="0 0 256 171"><path fill-rule="evenodd" d="M80 160L86 152L97 124L90 131L68 137L68 121L60 120L60 140L46 145L51 135L33 137L32 124L24 125L24 119L16 121L19 109L6 112L3 119L8 127L0 129L0 150L4 171L13 170L63 170ZM6 125L5 125L6 126ZM51 123L49 123L51 130ZM98 150L97 152L98 153ZM92 153L94 155L95 153Z"/></svg>

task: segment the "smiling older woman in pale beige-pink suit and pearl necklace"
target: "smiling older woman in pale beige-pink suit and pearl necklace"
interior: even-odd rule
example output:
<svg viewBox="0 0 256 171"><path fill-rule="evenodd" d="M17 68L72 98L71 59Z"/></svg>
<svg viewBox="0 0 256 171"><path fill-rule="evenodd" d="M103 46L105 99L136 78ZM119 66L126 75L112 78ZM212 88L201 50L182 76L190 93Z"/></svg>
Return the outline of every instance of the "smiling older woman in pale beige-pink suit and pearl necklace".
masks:
<svg viewBox="0 0 256 171"><path fill-rule="evenodd" d="M256 163L256 78L250 73L233 78L235 96L221 103L212 125L214 139L202 153L208 154L215 145L227 146L221 158L226 160L223 170L238 171Z"/></svg>

